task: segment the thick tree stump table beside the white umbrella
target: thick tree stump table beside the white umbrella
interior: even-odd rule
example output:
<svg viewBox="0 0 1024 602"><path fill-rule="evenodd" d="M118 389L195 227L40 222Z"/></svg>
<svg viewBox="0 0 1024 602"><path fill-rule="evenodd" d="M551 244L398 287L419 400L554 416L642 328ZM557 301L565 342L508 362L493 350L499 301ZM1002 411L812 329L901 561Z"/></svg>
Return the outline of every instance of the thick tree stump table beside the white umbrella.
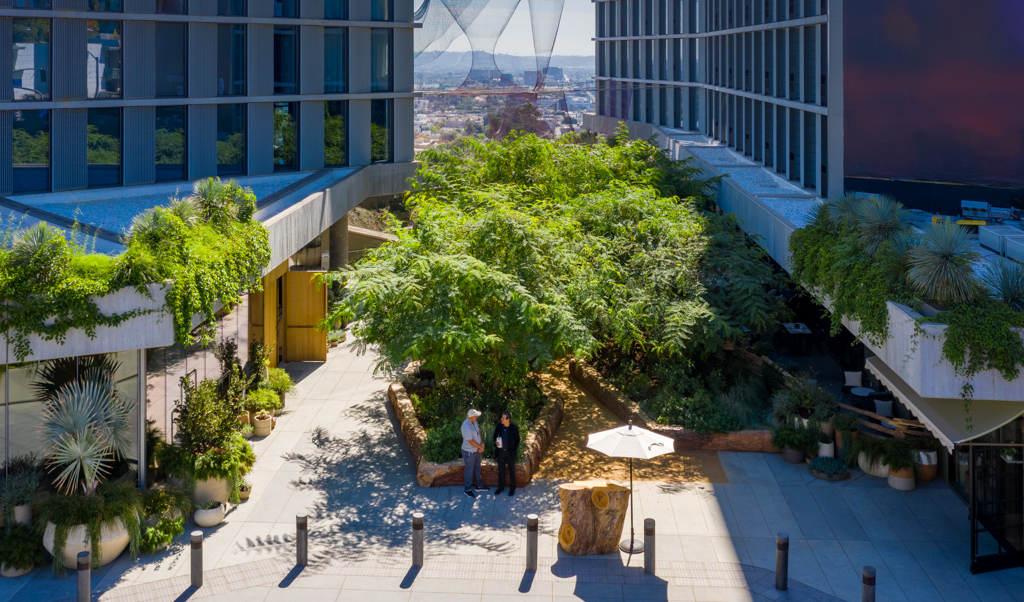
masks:
<svg viewBox="0 0 1024 602"><path fill-rule="evenodd" d="M568 554L613 554L618 550L630 507L630 490L606 481L573 481L558 486L562 524L558 545Z"/></svg>

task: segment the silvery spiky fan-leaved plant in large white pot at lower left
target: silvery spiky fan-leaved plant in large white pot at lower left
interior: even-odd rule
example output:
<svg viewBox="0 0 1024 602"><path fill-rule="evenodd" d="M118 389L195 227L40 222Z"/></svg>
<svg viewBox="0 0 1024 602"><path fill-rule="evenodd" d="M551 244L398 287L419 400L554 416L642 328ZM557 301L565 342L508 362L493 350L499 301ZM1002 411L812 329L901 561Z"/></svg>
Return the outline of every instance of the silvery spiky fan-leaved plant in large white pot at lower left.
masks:
<svg viewBox="0 0 1024 602"><path fill-rule="evenodd" d="M99 371L72 381L46 402L42 434L49 441L46 462L57 472L57 489L95 492L111 463L131 449L130 415L131 401Z"/></svg>

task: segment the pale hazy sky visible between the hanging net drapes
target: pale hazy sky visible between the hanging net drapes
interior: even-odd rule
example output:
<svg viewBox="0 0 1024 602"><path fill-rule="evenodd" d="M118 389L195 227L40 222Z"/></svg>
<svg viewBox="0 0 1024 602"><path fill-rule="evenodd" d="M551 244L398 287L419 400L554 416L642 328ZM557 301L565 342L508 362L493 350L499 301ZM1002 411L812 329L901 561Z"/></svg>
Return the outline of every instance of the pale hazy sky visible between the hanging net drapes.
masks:
<svg viewBox="0 0 1024 602"><path fill-rule="evenodd" d="M565 0L565 9L555 40L555 54L593 56L594 4L591 0ZM450 50L469 50L465 36L452 43ZM529 28L529 2L520 0L505 33L498 40L495 52L499 54L534 54L534 36Z"/></svg>

